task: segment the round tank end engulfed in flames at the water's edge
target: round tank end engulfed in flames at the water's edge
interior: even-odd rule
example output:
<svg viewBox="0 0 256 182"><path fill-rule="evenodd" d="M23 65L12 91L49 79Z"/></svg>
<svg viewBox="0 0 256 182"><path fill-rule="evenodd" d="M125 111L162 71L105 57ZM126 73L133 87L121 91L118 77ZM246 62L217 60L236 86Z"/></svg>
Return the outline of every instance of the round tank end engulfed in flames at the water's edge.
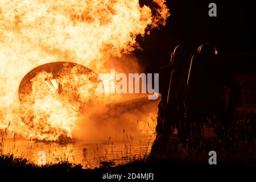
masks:
<svg viewBox="0 0 256 182"><path fill-rule="evenodd" d="M97 74L82 65L55 62L28 72L19 85L22 122L33 139L67 142L86 106L100 98Z"/></svg>

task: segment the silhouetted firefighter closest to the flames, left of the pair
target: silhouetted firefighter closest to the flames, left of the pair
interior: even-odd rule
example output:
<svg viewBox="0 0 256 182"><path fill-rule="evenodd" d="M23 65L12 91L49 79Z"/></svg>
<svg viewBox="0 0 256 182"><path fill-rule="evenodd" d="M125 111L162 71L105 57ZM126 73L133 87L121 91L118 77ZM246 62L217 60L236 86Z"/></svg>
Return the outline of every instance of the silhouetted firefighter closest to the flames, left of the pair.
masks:
<svg viewBox="0 0 256 182"><path fill-rule="evenodd" d="M159 93L162 100L158 105L156 139L151 154L164 153L168 138L177 127L179 139L183 146L189 134L184 122L184 104L177 100L183 73L189 68L191 52L188 47L180 45L171 53L171 64L163 67L159 73Z"/></svg>

